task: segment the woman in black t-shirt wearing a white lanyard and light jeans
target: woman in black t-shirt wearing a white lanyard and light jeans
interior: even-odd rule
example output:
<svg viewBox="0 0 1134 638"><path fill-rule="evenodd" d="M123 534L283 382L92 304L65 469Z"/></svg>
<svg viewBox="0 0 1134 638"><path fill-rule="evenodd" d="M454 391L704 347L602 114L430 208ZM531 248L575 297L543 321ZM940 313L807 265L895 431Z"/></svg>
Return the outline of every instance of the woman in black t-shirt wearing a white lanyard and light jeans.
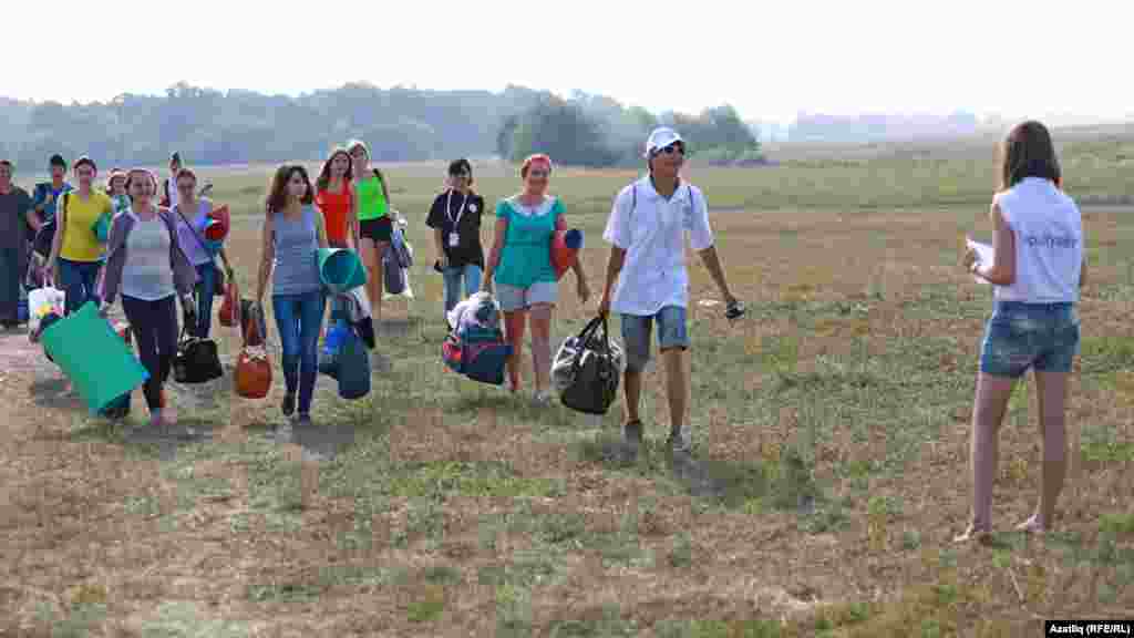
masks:
<svg viewBox="0 0 1134 638"><path fill-rule="evenodd" d="M484 198L473 192L473 167L467 159L449 165L450 187L433 200L425 224L433 229L434 268L445 277L446 317L460 301L481 288L484 249L481 216ZM462 287L464 284L464 287Z"/></svg>

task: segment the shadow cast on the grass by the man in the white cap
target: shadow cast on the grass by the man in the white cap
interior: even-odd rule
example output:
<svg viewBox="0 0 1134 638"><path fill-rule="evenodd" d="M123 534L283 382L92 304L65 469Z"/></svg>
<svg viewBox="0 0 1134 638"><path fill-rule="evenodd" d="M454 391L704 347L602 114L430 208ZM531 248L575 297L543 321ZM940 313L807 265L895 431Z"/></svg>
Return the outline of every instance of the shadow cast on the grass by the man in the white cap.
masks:
<svg viewBox="0 0 1134 638"><path fill-rule="evenodd" d="M650 440L635 447L618 436L602 435L576 443L575 454L583 462L669 477L691 495L726 507L764 503L811 514L822 501L812 472L799 456L790 453L778 462L742 463L675 453Z"/></svg>

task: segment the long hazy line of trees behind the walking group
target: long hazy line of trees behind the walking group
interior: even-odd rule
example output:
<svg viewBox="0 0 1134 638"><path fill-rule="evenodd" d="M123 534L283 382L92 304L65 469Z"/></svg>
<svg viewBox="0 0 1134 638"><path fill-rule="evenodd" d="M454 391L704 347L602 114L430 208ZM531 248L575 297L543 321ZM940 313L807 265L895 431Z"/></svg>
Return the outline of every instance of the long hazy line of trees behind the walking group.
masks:
<svg viewBox="0 0 1134 638"><path fill-rule="evenodd" d="M195 165L314 160L332 143L365 140L376 161L548 152L557 161L640 161L649 129L677 126L691 149L721 161L758 157L752 132L730 107L654 115L604 96L508 86L424 91L347 84L298 98L179 83L166 95L122 94L65 106L0 98L0 156L25 170L86 153L100 166L163 163L174 150Z"/></svg>

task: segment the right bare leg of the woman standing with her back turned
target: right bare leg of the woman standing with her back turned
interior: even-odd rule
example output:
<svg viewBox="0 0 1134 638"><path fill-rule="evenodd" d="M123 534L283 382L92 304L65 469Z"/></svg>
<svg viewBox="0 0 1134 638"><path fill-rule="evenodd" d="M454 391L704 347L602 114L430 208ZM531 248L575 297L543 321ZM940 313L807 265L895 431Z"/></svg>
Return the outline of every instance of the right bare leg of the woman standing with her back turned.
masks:
<svg viewBox="0 0 1134 638"><path fill-rule="evenodd" d="M1016 529L1041 532L1051 529L1055 522L1056 502L1067 475L1067 373L1038 371L1035 387L1039 391L1040 438L1043 440L1043 479L1035 513Z"/></svg>

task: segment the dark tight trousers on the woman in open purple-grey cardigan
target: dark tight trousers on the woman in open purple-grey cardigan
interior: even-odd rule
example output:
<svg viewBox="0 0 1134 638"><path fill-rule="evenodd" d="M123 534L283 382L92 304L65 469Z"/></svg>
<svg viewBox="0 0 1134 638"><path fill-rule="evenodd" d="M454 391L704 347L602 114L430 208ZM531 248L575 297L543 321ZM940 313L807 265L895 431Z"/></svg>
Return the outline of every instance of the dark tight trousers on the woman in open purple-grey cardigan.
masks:
<svg viewBox="0 0 1134 638"><path fill-rule="evenodd" d="M158 301L122 295L122 310L138 343L142 364L150 372L145 381L145 403L153 412L161 406L161 387L174 367L177 353L176 295Z"/></svg>

